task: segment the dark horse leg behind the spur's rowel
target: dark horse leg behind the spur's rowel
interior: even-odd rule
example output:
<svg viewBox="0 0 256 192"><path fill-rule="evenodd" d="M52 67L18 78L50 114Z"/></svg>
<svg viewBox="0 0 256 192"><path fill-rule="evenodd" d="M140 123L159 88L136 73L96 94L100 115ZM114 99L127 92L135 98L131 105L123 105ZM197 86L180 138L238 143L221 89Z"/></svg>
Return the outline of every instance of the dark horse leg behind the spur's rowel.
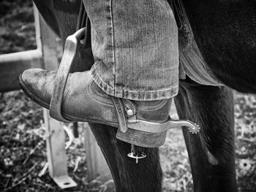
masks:
<svg viewBox="0 0 256 192"><path fill-rule="evenodd" d="M237 191L232 91L184 82L175 103L179 118L201 127L197 135L183 128L195 192Z"/></svg>

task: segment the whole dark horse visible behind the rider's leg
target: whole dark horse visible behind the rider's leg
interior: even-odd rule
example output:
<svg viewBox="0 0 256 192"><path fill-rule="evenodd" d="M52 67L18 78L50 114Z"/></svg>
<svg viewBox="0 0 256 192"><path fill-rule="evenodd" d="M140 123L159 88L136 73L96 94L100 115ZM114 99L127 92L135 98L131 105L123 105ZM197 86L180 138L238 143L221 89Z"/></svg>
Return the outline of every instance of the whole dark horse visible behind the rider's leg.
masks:
<svg viewBox="0 0 256 192"><path fill-rule="evenodd" d="M80 1L34 0L39 12L62 42L75 32ZM225 85L256 93L256 1L184 0L189 22L208 67ZM90 47L75 61L73 71L89 70ZM183 130L195 191L238 191L234 155L233 93L227 87L180 82L175 98L178 116L198 123L200 134ZM108 162L116 191L161 191L159 150L145 149L147 158L135 164L127 158L130 145L116 139L116 128L91 123Z"/></svg>

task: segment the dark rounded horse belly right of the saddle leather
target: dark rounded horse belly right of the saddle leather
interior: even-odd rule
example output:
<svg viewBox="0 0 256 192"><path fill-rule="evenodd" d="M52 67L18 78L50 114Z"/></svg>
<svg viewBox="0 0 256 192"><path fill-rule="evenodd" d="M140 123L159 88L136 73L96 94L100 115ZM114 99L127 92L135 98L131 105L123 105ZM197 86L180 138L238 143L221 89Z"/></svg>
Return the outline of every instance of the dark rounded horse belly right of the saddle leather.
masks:
<svg viewBox="0 0 256 192"><path fill-rule="evenodd" d="M256 93L256 1L184 0L198 47L230 88Z"/></svg>

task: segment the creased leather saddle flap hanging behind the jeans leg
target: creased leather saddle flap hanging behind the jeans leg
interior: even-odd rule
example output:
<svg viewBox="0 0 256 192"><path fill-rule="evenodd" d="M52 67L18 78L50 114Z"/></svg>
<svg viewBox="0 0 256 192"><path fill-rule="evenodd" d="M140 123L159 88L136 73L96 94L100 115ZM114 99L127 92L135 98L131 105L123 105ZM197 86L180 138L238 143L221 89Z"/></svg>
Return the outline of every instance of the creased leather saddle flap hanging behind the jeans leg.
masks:
<svg viewBox="0 0 256 192"><path fill-rule="evenodd" d="M222 82L211 72L208 64L203 58L192 28L187 17L186 10L182 0L167 0L176 18L178 26L178 50L180 64L178 76L181 80L185 80L186 76L201 85L221 86Z"/></svg>

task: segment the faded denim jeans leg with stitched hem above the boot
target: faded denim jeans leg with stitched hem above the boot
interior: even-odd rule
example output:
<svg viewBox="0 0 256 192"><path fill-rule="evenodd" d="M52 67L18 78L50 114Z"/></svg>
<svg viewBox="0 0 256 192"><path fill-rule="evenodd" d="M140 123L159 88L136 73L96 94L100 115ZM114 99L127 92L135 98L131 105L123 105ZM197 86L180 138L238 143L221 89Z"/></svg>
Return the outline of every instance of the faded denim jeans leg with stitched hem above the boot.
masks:
<svg viewBox="0 0 256 192"><path fill-rule="evenodd" d="M91 74L105 93L170 99L178 93L178 29L166 0L83 0L91 21Z"/></svg>

